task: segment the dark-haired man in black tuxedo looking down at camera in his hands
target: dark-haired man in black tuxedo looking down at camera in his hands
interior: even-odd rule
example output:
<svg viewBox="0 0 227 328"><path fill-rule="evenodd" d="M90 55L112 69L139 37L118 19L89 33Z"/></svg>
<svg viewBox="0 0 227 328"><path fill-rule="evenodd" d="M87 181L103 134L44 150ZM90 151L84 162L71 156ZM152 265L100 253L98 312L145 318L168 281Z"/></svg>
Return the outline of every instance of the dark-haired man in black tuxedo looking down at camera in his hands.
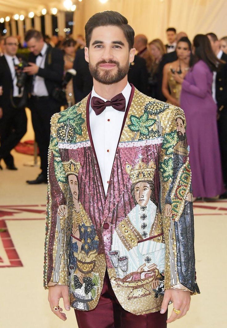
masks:
<svg viewBox="0 0 227 328"><path fill-rule="evenodd" d="M41 32L29 30L25 41L31 51L29 66L24 72L30 75L28 82L31 97L28 107L31 110L35 140L39 146L41 173L35 180L27 180L29 184L47 183L47 155L50 141L50 118L60 112L66 99L56 99L56 88L61 88L64 60L61 50L52 48L44 42Z"/></svg>

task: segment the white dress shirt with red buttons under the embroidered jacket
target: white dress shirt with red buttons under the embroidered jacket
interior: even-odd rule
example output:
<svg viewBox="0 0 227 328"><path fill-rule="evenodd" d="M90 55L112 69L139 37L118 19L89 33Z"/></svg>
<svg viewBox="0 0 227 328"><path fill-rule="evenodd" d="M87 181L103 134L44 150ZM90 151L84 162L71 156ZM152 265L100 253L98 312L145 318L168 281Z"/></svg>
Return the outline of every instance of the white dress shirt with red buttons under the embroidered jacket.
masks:
<svg viewBox="0 0 227 328"><path fill-rule="evenodd" d="M131 86L127 83L124 90L121 92L126 100L126 108L129 102L131 93ZM92 89L91 98L95 96L104 101L94 90ZM102 182L104 186L105 194L107 194L110 175L113 167L113 161L120 137L120 132L124 120L125 112L119 112L112 106L107 106L106 109L99 115L96 115L91 107L89 106L89 120L92 140L95 147L95 152L100 168Z"/></svg>

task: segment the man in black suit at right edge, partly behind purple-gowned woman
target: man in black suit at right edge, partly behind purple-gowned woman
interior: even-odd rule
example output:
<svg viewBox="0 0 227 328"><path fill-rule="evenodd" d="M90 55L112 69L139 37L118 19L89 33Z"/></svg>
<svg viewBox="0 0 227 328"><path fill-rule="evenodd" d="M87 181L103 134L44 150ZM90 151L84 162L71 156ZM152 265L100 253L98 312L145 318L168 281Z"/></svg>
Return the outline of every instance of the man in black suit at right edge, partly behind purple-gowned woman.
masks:
<svg viewBox="0 0 227 328"><path fill-rule="evenodd" d="M214 33L206 34L220 64L218 72L214 72L212 85L213 98L218 106L218 134L221 151L222 173L225 187L227 187L227 54L220 49L220 42ZM221 196L227 198L227 192Z"/></svg>

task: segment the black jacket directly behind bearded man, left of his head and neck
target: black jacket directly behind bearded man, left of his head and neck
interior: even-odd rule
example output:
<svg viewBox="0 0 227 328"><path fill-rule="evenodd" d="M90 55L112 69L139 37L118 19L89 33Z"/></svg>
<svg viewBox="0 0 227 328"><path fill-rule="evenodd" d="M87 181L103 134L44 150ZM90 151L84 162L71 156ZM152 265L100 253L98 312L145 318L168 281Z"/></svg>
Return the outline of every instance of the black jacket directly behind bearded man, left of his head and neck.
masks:
<svg viewBox="0 0 227 328"><path fill-rule="evenodd" d="M86 97L93 88L93 78L89 71L88 62L84 58L84 49L77 50L73 68L77 72L73 77L73 91L77 103Z"/></svg>

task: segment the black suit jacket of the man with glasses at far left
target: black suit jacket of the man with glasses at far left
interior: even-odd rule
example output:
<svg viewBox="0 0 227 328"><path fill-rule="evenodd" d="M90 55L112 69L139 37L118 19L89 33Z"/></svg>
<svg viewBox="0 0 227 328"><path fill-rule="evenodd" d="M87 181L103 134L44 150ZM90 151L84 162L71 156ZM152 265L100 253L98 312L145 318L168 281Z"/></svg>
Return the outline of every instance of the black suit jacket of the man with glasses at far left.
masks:
<svg viewBox="0 0 227 328"><path fill-rule="evenodd" d="M17 56L21 58L21 56ZM22 58L23 59L23 58ZM3 55L0 57L0 86L2 86L3 94L0 96L0 107L3 112L12 108L12 95L13 95L13 80L9 69L6 57ZM26 98L27 93L24 90L24 96Z"/></svg>

